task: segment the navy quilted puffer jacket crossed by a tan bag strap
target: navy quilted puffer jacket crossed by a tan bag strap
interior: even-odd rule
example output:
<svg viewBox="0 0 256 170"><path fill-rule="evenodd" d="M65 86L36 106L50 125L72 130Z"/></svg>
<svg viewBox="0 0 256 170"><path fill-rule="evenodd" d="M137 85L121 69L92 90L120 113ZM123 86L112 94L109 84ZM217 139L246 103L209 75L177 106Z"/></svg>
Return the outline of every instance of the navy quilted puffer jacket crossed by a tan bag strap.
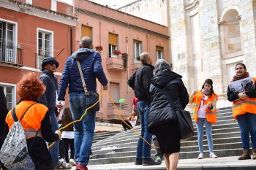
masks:
<svg viewBox="0 0 256 170"><path fill-rule="evenodd" d="M61 81L59 82L58 100L65 100L68 85L69 93L84 91L83 83L78 70L78 64L75 60L80 61L87 90L96 92L96 78L102 85L108 84L108 80L103 72L102 58L100 54L89 48L80 48L69 58L67 58L61 75Z"/></svg>

